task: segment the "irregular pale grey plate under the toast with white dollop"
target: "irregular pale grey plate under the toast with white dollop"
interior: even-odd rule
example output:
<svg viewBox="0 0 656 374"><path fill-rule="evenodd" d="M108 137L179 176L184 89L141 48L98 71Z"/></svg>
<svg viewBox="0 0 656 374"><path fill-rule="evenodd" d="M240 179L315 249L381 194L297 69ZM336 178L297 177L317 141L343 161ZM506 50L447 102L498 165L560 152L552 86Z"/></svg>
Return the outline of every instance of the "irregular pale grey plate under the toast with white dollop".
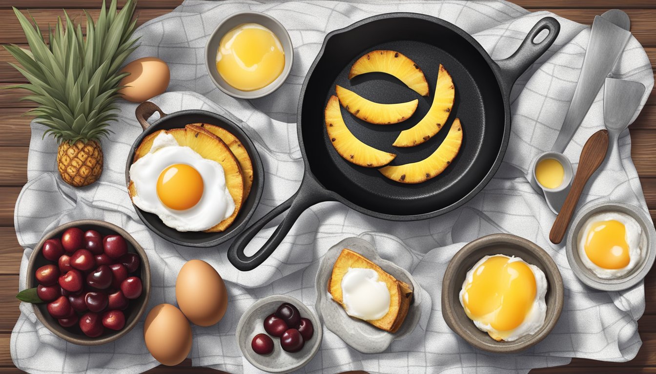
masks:
<svg viewBox="0 0 656 374"><path fill-rule="evenodd" d="M351 318L331 298L328 293L328 280L333 273L333 265L335 265L337 257L339 257L339 254L344 248L348 248L353 252L367 257L367 259L394 276L394 278L411 285L414 299L405 317L405 321L403 321L403 324L396 333L383 331L363 320ZM367 242L367 240L361 238L346 238L326 252L323 259L321 259L321 265L319 265L319 271L317 272L316 289L317 302L314 307L325 327L333 331L344 343L362 353L383 352L392 344L392 341L403 339L407 335L410 335L415 327L417 327L417 323L419 323L421 316L419 305L421 303L420 295L422 293L419 284L415 282L414 278L405 269L398 267L398 265L390 261L381 259L378 252L376 252L376 248Z"/></svg>

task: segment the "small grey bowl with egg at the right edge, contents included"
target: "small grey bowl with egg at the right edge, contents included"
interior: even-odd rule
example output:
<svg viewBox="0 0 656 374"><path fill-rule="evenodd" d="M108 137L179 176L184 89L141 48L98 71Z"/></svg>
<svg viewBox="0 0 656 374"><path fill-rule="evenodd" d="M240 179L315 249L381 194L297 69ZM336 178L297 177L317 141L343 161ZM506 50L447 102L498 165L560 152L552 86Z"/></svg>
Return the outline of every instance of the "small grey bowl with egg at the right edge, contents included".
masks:
<svg viewBox="0 0 656 374"><path fill-rule="evenodd" d="M656 259L656 231L642 208L598 202L581 208L567 233L567 261L586 286L626 290Z"/></svg>

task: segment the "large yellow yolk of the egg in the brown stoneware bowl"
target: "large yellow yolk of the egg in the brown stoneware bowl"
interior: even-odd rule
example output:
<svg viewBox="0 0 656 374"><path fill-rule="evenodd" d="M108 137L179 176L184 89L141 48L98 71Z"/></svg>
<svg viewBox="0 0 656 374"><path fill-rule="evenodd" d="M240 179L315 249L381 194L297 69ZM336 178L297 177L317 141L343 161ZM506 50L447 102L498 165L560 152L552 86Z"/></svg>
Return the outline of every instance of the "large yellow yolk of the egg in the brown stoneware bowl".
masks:
<svg viewBox="0 0 656 374"><path fill-rule="evenodd" d="M522 261L509 260L504 256L489 257L474 270L472 281L462 293L467 316L497 331L520 326L535 301L533 271Z"/></svg>

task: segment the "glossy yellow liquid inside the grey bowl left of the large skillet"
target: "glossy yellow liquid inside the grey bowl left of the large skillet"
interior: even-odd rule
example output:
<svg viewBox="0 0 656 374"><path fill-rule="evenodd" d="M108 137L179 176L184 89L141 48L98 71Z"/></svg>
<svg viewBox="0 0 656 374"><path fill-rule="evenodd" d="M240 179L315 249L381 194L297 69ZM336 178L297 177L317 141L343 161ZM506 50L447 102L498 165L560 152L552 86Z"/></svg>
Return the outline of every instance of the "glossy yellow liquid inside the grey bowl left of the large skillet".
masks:
<svg viewBox="0 0 656 374"><path fill-rule="evenodd" d="M228 31L216 53L216 71L237 90L268 86L284 67L285 51L276 34L258 24L241 24Z"/></svg>

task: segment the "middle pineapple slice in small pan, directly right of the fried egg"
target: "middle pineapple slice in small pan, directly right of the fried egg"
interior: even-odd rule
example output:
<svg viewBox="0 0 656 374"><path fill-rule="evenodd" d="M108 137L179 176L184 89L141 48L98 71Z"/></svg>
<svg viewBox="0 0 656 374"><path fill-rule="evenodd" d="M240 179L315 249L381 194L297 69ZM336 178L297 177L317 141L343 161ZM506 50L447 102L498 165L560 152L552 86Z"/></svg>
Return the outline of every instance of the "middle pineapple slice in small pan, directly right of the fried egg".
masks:
<svg viewBox="0 0 656 374"><path fill-rule="evenodd" d="M239 214L241 204L243 204L244 185L241 168L239 168L239 163L235 155L230 152L228 145L217 136L193 124L185 126L185 130L186 142L184 145L193 149L203 159L214 160L223 167L223 172L226 176L226 187L228 187L230 196L235 201L235 211L230 217L220 221L215 227L211 227L205 230L205 232L216 233L225 231L235 221L237 214Z"/></svg>

